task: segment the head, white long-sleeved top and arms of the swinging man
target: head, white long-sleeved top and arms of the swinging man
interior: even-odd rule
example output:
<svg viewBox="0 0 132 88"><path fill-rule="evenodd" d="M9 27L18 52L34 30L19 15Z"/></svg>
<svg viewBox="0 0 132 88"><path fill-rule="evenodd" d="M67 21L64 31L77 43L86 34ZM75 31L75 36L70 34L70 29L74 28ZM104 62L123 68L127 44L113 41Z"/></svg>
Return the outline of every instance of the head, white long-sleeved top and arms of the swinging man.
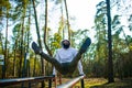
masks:
<svg viewBox="0 0 132 88"><path fill-rule="evenodd" d="M62 48L57 50L55 58L62 63L70 63L73 58L77 55L77 50L70 47L70 42L68 40L62 41ZM84 75L82 66L80 61L78 62L77 68L79 70L79 75ZM56 75L55 67L53 68L53 75Z"/></svg>

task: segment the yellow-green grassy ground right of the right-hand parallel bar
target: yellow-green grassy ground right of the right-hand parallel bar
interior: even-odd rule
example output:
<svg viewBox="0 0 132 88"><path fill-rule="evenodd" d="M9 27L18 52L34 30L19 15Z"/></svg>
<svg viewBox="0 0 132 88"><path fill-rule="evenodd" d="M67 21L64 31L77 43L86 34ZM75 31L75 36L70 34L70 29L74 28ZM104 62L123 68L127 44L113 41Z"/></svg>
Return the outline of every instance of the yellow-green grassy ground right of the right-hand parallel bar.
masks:
<svg viewBox="0 0 132 88"><path fill-rule="evenodd" d="M119 80L107 84L108 81L103 78L91 78L85 80L85 88L132 88L132 79Z"/></svg>

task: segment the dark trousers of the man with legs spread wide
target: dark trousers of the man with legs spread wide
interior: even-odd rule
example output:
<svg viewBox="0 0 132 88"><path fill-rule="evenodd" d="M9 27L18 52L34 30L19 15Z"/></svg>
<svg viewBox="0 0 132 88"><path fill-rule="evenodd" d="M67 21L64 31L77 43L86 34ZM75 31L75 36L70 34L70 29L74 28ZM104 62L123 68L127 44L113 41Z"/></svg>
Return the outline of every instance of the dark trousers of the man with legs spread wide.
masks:
<svg viewBox="0 0 132 88"><path fill-rule="evenodd" d="M40 54L45 61L50 62L52 65L55 66L55 68L62 74L62 75L70 75L75 72L79 59L81 58L81 53L78 52L78 54L74 57L74 59L69 63L59 63L56 58L45 54Z"/></svg>

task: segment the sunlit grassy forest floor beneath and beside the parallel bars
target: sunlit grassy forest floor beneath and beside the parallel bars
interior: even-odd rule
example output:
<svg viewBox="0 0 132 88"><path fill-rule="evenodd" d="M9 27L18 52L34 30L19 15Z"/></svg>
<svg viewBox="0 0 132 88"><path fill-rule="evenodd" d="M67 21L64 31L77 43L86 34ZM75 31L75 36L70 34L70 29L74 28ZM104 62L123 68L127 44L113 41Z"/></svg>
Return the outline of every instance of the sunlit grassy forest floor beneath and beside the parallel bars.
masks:
<svg viewBox="0 0 132 88"><path fill-rule="evenodd" d="M67 78L63 78L62 82L66 82ZM114 82L111 84L107 84L107 79L105 78L85 78L85 88L132 88L132 78L129 79L114 79ZM58 84L58 82L57 82ZM1 88L1 87L0 87ZM16 86L10 86L10 87L6 87L6 88L21 88L21 85L16 85ZM24 85L24 88L28 88L28 84ZM41 88L41 84L32 84L31 88ZM48 88L48 84L46 82L46 87ZM54 82L53 82L53 87L54 87ZM81 88L80 87L80 82L78 82L75 87L73 88Z"/></svg>

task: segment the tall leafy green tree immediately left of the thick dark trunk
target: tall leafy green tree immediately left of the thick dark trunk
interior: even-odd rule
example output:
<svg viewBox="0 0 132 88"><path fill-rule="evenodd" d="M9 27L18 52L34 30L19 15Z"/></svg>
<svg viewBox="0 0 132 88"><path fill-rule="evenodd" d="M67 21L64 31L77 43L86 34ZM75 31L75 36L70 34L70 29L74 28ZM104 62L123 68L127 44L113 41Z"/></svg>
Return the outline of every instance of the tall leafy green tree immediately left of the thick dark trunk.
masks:
<svg viewBox="0 0 132 88"><path fill-rule="evenodd" d="M107 68L108 54L106 53L108 52L107 50L107 14L106 13L107 13L106 2L101 1L97 4L97 13L95 19L95 30L97 32L95 37L97 38L97 43L95 47L96 51L94 54L95 55L94 72L98 74L101 70L101 68L103 68L105 77L106 77L106 74L108 73L108 68ZM101 66L105 66L105 67L101 67ZM100 70L97 67L100 67ZM100 75L100 74L98 75L97 74L96 76Z"/></svg>

